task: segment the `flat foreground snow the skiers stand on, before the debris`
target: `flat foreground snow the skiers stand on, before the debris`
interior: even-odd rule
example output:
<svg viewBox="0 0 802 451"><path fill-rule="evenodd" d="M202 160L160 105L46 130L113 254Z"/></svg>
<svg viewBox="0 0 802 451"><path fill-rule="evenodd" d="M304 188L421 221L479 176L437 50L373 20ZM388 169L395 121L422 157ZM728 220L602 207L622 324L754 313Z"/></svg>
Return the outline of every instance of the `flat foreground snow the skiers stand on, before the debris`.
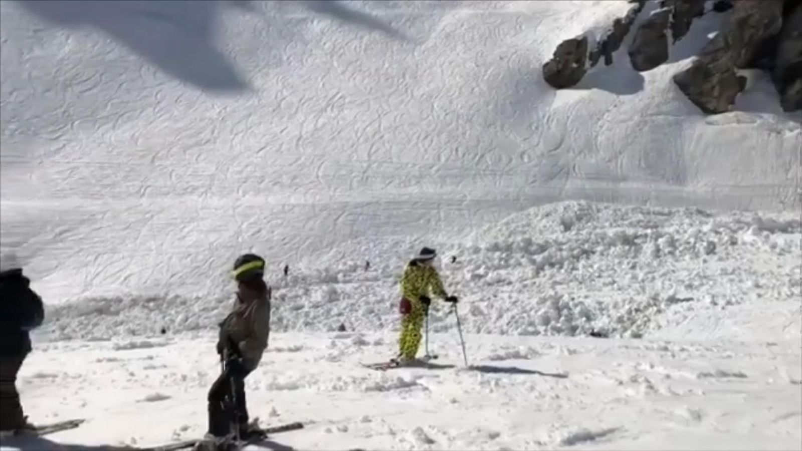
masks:
<svg viewBox="0 0 802 451"><path fill-rule="evenodd" d="M261 424L302 421L248 449L799 449L799 341L686 341L435 334L435 368L376 372L395 335L273 335L247 381ZM37 421L87 416L71 431L18 441L156 445L201 437L214 342L157 347L41 344L22 368ZM9 449L13 449L14 443ZM52 449L52 448L51 448Z"/></svg>

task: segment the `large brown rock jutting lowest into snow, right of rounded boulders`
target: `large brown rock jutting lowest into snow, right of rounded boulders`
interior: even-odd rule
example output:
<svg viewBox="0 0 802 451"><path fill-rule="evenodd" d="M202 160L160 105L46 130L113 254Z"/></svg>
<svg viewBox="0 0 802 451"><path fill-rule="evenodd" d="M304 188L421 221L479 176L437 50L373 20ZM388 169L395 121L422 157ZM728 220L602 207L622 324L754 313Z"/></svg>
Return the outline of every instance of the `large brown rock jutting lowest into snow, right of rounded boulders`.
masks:
<svg viewBox="0 0 802 451"><path fill-rule="evenodd" d="M746 79L735 70L747 68L761 43L780 31L782 10L783 3L776 0L736 2L723 30L691 67L674 75L674 83L703 112L730 111L746 87Z"/></svg>

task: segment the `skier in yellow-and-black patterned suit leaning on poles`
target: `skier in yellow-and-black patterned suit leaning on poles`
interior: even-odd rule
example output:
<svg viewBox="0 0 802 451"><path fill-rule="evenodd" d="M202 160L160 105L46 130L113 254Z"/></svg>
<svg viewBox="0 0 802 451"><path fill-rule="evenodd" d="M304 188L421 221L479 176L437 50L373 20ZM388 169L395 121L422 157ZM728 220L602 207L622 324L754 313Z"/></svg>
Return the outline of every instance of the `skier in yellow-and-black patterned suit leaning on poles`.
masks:
<svg viewBox="0 0 802 451"><path fill-rule="evenodd" d="M457 303L456 296L449 296L443 288L443 282L432 265L437 253L424 247L420 253L407 264L401 278L401 303L399 311L401 319L401 335L399 337L399 359L397 364L408 364L415 360L420 345L420 329L423 319L429 314L431 295L444 299L447 303Z"/></svg>

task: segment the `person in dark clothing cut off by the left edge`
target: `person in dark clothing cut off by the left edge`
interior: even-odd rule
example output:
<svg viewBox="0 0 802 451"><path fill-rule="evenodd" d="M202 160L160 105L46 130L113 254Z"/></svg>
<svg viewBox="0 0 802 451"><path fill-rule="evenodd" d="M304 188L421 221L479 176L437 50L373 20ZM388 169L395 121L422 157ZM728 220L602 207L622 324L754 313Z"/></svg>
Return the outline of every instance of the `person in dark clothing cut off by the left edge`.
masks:
<svg viewBox="0 0 802 451"><path fill-rule="evenodd" d="M0 433L33 432L22 414L16 382L31 351L28 331L45 318L42 298L30 289L21 268L0 272Z"/></svg>

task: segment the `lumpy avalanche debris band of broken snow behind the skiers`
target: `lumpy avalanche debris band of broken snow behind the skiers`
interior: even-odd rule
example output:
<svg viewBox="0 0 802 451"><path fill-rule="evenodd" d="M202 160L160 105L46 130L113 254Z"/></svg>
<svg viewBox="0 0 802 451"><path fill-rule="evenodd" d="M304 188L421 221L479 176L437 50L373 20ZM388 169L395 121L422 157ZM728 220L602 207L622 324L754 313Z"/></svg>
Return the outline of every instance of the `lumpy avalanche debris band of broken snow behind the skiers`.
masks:
<svg viewBox="0 0 802 451"><path fill-rule="evenodd" d="M724 311L753 315L738 308L753 303L768 303L762 310L799 307L802 225L794 216L560 202L513 215L461 241L440 243L444 255L459 256L453 264L444 258L441 271L448 290L463 299L460 319L468 332L641 337L691 317L698 323L722 318ZM305 282L274 290L273 329L335 332L346 323L359 331L332 335L331 360L342 356L340 341L383 344L362 333L398 325L397 282L404 262L396 263L377 265L369 274L334 267L297 270ZM327 275L336 271L342 271L337 278ZM334 298L316 295L333 292ZM208 331L229 302L177 295L79 299L51 307L45 334L110 339L156 335L165 324L172 333ZM767 321L794 318L784 315L772 313ZM455 326L439 303L430 321L435 332ZM798 332L785 323L781 328ZM491 360L533 356L537 351L511 350Z"/></svg>

